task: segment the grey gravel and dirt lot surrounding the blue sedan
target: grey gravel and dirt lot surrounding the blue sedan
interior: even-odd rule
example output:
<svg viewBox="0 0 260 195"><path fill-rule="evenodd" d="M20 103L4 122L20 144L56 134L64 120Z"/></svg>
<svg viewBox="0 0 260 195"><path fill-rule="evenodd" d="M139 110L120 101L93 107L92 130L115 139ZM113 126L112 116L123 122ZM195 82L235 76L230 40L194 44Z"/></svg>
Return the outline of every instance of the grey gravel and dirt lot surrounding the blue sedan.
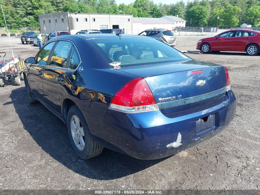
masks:
<svg viewBox="0 0 260 195"><path fill-rule="evenodd" d="M177 36L176 48L195 51L202 36ZM38 47L11 38L14 55ZM8 38L0 37L8 52ZM260 54L188 54L226 65L237 97L236 117L226 131L174 156L138 160L104 149L82 160L67 129L42 104L27 102L24 82L0 88L0 189L260 189Z"/></svg>

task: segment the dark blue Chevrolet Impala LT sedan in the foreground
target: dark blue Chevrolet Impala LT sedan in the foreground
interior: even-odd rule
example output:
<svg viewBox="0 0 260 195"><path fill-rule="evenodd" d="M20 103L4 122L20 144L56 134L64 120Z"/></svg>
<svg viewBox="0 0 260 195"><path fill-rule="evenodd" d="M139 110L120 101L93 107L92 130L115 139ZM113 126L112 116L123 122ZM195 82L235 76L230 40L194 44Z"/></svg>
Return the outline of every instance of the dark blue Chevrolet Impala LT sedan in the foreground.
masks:
<svg viewBox="0 0 260 195"><path fill-rule="evenodd" d="M149 37L64 35L26 63L29 102L67 125L82 159L103 147L138 159L173 155L227 128L236 112L225 66Z"/></svg>

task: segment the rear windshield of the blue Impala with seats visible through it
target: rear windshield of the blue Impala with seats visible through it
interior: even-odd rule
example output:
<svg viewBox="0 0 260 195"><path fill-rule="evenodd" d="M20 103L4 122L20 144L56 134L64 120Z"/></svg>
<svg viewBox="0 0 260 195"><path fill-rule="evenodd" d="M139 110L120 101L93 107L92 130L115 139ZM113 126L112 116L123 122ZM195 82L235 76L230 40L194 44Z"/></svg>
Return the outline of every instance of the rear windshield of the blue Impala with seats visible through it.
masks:
<svg viewBox="0 0 260 195"><path fill-rule="evenodd" d="M115 64L130 67L191 60L180 51L156 39L118 37L88 40L111 67Z"/></svg>

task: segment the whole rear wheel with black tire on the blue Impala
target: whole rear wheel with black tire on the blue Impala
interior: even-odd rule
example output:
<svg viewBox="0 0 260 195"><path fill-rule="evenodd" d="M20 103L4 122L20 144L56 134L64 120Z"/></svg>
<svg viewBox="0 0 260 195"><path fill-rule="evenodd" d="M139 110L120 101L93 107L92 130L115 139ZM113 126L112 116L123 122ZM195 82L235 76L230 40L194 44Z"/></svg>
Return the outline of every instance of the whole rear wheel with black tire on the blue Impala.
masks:
<svg viewBox="0 0 260 195"><path fill-rule="evenodd" d="M72 106L68 112L67 127L70 143L80 158L90 159L98 156L103 151L103 146L94 141L87 122L76 105Z"/></svg>

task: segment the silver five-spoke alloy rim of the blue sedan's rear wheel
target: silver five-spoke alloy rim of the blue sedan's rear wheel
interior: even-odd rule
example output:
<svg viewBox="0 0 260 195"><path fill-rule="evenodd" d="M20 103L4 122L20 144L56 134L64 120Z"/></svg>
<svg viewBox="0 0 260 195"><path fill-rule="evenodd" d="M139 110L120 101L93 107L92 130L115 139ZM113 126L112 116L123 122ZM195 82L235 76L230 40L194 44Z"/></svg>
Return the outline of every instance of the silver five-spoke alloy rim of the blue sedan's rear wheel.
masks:
<svg viewBox="0 0 260 195"><path fill-rule="evenodd" d="M82 124L80 123L80 120L76 115L71 116L70 130L75 145L79 150L82 151L85 148L85 136L84 136Z"/></svg>

